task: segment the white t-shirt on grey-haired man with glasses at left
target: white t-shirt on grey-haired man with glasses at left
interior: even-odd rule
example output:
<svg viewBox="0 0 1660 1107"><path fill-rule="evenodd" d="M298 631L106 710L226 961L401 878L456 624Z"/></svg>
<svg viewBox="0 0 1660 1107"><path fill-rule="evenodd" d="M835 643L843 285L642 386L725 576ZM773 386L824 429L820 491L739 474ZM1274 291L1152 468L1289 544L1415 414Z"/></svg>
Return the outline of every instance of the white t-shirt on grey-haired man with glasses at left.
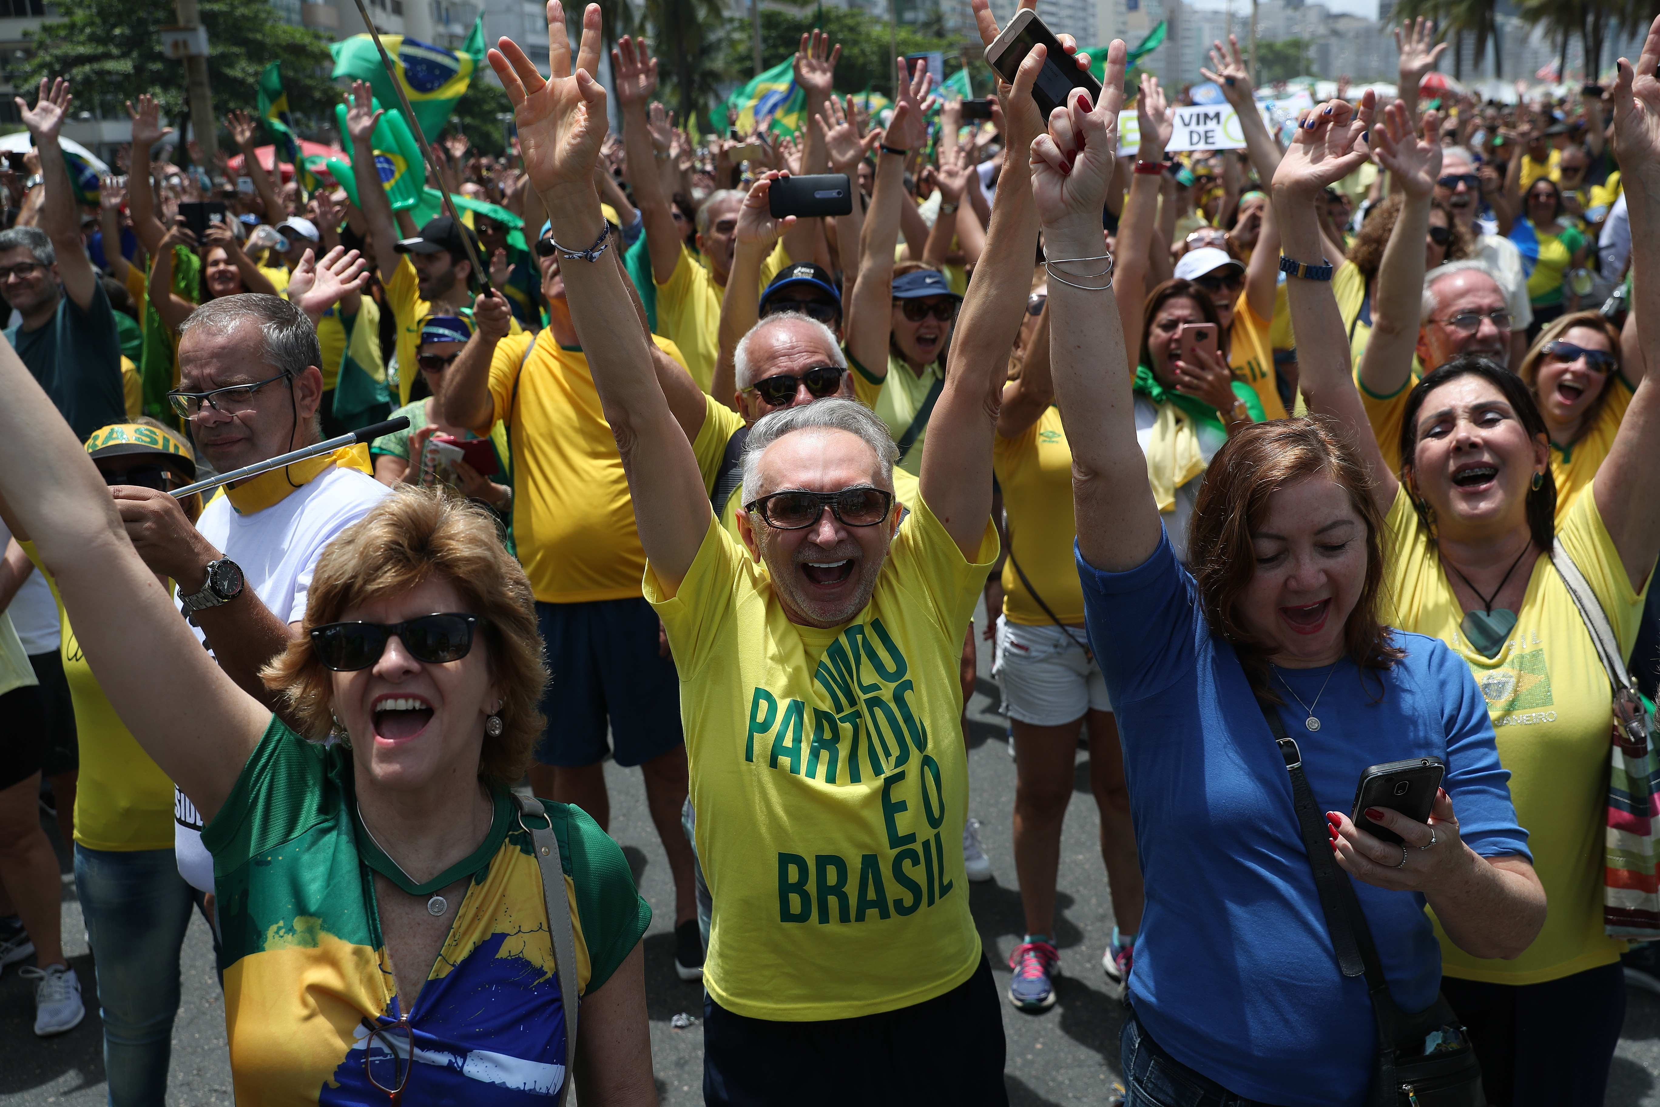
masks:
<svg viewBox="0 0 1660 1107"><path fill-rule="evenodd" d="M242 569L252 589L284 622L305 617L305 594L324 548L392 490L359 470L330 468L264 511L237 514L227 496L209 503L196 529ZM206 641L199 627L196 637ZM173 850L179 875L212 891L212 856L203 846L201 815L174 788Z"/></svg>

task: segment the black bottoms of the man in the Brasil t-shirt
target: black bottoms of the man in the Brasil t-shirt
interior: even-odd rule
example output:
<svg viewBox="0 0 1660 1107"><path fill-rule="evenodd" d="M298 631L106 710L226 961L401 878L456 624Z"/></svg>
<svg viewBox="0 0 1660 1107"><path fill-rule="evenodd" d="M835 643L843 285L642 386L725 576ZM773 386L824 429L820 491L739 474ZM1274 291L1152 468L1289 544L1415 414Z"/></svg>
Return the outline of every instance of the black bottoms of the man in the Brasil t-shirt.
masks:
<svg viewBox="0 0 1660 1107"><path fill-rule="evenodd" d="M704 1102L720 1107L1008 1107L1004 1052L984 958L943 996L857 1019L750 1019L704 992Z"/></svg>

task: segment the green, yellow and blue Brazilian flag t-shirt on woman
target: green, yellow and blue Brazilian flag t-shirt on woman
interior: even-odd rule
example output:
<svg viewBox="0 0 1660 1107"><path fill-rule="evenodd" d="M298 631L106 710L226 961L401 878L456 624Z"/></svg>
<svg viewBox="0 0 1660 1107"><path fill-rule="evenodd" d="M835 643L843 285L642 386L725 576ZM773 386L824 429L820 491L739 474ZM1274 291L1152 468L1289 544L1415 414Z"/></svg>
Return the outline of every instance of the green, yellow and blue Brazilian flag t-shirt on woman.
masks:
<svg viewBox="0 0 1660 1107"><path fill-rule="evenodd" d="M603 986L651 923L616 841L543 802L576 938L578 992ZM354 818L352 753L272 717L203 843L214 856L231 1077L239 1104L367 1104L365 1052L390 1064L408 1014L408 1102L546 1104L564 1082L564 1009L541 870L506 793L412 1009L397 994ZM393 1042L395 1046L397 1042Z"/></svg>

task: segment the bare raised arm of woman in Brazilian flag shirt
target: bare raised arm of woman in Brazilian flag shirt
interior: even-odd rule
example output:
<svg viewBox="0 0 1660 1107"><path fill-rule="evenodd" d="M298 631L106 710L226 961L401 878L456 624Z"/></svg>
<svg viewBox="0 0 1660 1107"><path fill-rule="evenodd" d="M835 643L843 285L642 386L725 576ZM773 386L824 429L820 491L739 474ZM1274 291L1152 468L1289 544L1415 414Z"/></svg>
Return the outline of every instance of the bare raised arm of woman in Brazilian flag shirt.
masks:
<svg viewBox="0 0 1660 1107"><path fill-rule="evenodd" d="M0 392L0 501L56 578L80 647L121 722L211 820L271 712L203 651L133 549L81 443L3 342ZM133 627L143 627L143 649L133 647Z"/></svg>

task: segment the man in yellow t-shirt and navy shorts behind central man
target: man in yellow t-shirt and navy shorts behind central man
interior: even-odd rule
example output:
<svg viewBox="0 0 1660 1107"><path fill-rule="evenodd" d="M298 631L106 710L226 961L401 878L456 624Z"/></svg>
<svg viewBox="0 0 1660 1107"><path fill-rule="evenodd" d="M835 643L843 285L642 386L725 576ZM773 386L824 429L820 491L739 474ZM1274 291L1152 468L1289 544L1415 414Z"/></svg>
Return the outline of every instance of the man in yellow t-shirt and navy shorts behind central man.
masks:
<svg viewBox="0 0 1660 1107"><path fill-rule="evenodd" d="M548 227L541 242L551 242ZM676 971L681 979L697 979L704 953L692 848L681 831L687 770L679 680L659 642L657 616L641 597L646 551L627 476L561 274L564 266L589 262L541 249L536 261L548 325L535 335L510 334L506 297L500 290L480 295L473 337L445 372L440 422L480 436L496 422L508 428L513 541L536 596L553 672L541 702L548 729L536 747L531 787L536 795L581 807L608 828L604 758L609 753L619 767L639 765L674 876ZM621 259L608 247L598 264L619 266ZM627 290L618 295L631 304ZM644 332L644 312L629 322ZM674 392L679 383L701 410L706 397L687 377L681 352L667 339L654 342L656 357L647 360L667 375L662 387Z"/></svg>

